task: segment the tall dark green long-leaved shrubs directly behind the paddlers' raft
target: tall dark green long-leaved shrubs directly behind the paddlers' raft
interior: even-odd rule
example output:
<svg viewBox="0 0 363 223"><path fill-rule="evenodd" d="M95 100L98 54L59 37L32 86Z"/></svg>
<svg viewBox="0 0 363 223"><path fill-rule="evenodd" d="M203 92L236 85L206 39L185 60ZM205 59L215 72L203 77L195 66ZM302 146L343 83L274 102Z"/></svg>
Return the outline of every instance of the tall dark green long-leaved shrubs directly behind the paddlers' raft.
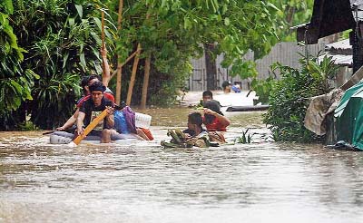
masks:
<svg viewBox="0 0 363 223"><path fill-rule="evenodd" d="M27 51L20 65L31 68L39 77L31 94L26 94L26 100L33 101L18 100L15 105L27 104L24 107L35 126L52 129L66 121L74 111L75 100L81 96L80 76L102 73L101 5L97 0L15 2L12 25L19 36L18 44ZM112 22L107 12L106 19ZM114 26L107 26L105 34L112 53ZM21 70L19 74L26 77Z"/></svg>

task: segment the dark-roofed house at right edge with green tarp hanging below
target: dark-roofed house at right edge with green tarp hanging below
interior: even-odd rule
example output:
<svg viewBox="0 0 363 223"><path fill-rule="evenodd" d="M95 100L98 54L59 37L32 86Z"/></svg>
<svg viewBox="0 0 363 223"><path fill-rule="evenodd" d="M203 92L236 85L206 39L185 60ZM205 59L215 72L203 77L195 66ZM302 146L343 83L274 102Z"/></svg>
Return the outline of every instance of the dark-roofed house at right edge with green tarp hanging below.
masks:
<svg viewBox="0 0 363 223"><path fill-rule="evenodd" d="M298 27L297 37L298 41L304 41L306 44L316 44L319 38L347 30L351 30L348 40L328 46L329 53L336 58L336 61L352 66L353 71L348 82L335 90L346 91L338 101L338 106L332 104L324 114L328 127L327 142L330 144L338 141L337 148L349 147L350 144L355 149L363 150L363 129L361 128L363 126L363 82L361 82L363 78L363 0L336 0L334 3L315 0L310 22ZM351 63L348 54L351 54ZM341 81L344 82L344 80ZM325 95L318 97L322 96ZM326 102L332 102L335 99L332 97ZM305 126L307 127L307 120L309 122L314 117L321 116L320 111L324 110L310 112L310 116L307 112ZM334 115L329 111L333 111Z"/></svg>

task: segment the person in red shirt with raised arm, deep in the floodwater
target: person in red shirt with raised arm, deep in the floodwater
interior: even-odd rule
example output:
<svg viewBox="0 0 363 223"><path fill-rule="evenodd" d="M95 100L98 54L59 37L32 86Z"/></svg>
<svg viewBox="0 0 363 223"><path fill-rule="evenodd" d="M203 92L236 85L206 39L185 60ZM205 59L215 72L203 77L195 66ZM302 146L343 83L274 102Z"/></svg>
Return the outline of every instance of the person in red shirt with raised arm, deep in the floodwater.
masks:
<svg viewBox="0 0 363 223"><path fill-rule="evenodd" d="M231 121L221 112L221 107L217 102L205 102L203 113L203 123L207 131L226 131L226 127L231 124Z"/></svg>

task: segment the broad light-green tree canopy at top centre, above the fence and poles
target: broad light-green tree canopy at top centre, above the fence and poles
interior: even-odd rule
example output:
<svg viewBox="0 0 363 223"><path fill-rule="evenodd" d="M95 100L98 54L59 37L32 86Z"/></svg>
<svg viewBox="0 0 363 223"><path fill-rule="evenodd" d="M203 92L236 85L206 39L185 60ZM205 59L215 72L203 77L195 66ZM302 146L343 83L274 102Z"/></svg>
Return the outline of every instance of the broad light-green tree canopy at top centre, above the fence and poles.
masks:
<svg viewBox="0 0 363 223"><path fill-rule="evenodd" d="M117 12L117 4L110 1L113 12ZM204 44L215 44L213 57L224 53L222 65L231 66L231 75L256 76L254 63L244 61L242 56L250 49L257 56L270 51L270 39L276 39L273 24L277 11L274 5L260 0L124 1L123 29L116 49L121 61L138 43L142 45L141 58L152 53L151 80L158 83L150 83L149 94L157 96L149 97L149 102L169 104L191 74L191 58L202 55ZM123 67L123 80L129 80L131 66ZM135 88L141 87L142 71L138 70ZM126 90L123 86L123 94ZM134 97L140 99L140 92L132 95L132 102Z"/></svg>

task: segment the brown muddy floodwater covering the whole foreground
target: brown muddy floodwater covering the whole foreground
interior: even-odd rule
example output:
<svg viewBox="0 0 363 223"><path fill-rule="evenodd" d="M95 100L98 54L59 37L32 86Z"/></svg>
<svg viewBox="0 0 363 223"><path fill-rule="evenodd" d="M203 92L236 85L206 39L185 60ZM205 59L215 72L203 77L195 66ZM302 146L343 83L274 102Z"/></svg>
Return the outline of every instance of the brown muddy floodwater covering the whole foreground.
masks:
<svg viewBox="0 0 363 223"><path fill-rule="evenodd" d="M142 111L151 142L0 132L0 222L363 222L363 152L272 142L260 112L233 113L227 134L254 143L162 149L190 111Z"/></svg>

